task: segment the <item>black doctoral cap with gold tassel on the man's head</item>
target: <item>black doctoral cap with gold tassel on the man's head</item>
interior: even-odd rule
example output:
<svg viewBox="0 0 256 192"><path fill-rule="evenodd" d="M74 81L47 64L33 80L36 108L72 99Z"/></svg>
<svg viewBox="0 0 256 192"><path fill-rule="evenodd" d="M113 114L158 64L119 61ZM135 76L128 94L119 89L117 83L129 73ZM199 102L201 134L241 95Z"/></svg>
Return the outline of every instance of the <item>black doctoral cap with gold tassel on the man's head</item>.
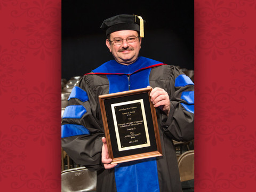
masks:
<svg viewBox="0 0 256 192"><path fill-rule="evenodd" d="M138 15L120 14L104 20L100 28L106 31L106 36L119 30L135 30L144 37L144 22Z"/></svg>

